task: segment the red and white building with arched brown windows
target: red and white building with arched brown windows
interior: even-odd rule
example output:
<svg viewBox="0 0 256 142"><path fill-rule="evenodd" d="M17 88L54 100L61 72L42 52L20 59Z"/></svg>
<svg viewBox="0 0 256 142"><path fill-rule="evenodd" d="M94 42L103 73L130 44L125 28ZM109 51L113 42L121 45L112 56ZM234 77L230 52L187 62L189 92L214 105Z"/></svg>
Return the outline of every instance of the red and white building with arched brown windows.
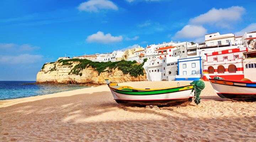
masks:
<svg viewBox="0 0 256 142"><path fill-rule="evenodd" d="M244 78L243 53L248 48L235 48L206 54L203 71L209 76L222 77L225 80L241 80ZM207 80L204 76L204 80Z"/></svg>

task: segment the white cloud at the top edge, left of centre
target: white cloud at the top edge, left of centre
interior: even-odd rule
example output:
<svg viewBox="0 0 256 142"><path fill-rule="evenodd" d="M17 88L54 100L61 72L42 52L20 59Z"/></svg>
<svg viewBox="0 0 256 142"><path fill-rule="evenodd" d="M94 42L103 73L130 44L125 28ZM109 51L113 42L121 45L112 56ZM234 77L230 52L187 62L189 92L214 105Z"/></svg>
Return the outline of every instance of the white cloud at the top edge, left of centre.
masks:
<svg viewBox="0 0 256 142"><path fill-rule="evenodd" d="M98 12L103 9L118 10L118 7L109 0L89 0L78 6L79 11Z"/></svg>

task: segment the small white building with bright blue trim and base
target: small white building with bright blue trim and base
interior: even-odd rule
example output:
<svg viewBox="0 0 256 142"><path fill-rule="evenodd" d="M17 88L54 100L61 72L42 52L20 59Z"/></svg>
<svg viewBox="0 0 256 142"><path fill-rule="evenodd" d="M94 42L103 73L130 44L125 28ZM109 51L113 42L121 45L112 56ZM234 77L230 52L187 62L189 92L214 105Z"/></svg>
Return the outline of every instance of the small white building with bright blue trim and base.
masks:
<svg viewBox="0 0 256 142"><path fill-rule="evenodd" d="M176 75L176 80L199 80L201 77L201 57L178 59L178 75Z"/></svg>

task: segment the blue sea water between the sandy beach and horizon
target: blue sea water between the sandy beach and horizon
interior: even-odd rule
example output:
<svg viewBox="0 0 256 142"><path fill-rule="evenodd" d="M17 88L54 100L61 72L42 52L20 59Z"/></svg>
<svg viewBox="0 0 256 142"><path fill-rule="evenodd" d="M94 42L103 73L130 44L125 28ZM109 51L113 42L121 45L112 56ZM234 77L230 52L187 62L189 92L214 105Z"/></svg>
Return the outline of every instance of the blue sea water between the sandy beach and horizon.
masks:
<svg viewBox="0 0 256 142"><path fill-rule="evenodd" d="M0 100L86 88L72 84L34 84L35 81L0 81Z"/></svg>

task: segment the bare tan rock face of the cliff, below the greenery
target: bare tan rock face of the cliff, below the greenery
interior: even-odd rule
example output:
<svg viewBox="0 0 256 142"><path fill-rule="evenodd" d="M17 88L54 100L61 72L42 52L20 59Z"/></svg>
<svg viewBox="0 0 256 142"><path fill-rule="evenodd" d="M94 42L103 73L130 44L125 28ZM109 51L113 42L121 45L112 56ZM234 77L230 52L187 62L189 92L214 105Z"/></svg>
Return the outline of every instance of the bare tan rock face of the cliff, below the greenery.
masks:
<svg viewBox="0 0 256 142"><path fill-rule="evenodd" d="M70 73L73 67L78 64L79 62L70 62L69 65L62 65L62 62L44 64L37 73L37 83L105 84L105 79L117 83L147 80L145 73L134 77L130 74L124 74L117 68L111 70L107 68L107 71L101 72L100 75L91 66L81 70L79 75Z"/></svg>

